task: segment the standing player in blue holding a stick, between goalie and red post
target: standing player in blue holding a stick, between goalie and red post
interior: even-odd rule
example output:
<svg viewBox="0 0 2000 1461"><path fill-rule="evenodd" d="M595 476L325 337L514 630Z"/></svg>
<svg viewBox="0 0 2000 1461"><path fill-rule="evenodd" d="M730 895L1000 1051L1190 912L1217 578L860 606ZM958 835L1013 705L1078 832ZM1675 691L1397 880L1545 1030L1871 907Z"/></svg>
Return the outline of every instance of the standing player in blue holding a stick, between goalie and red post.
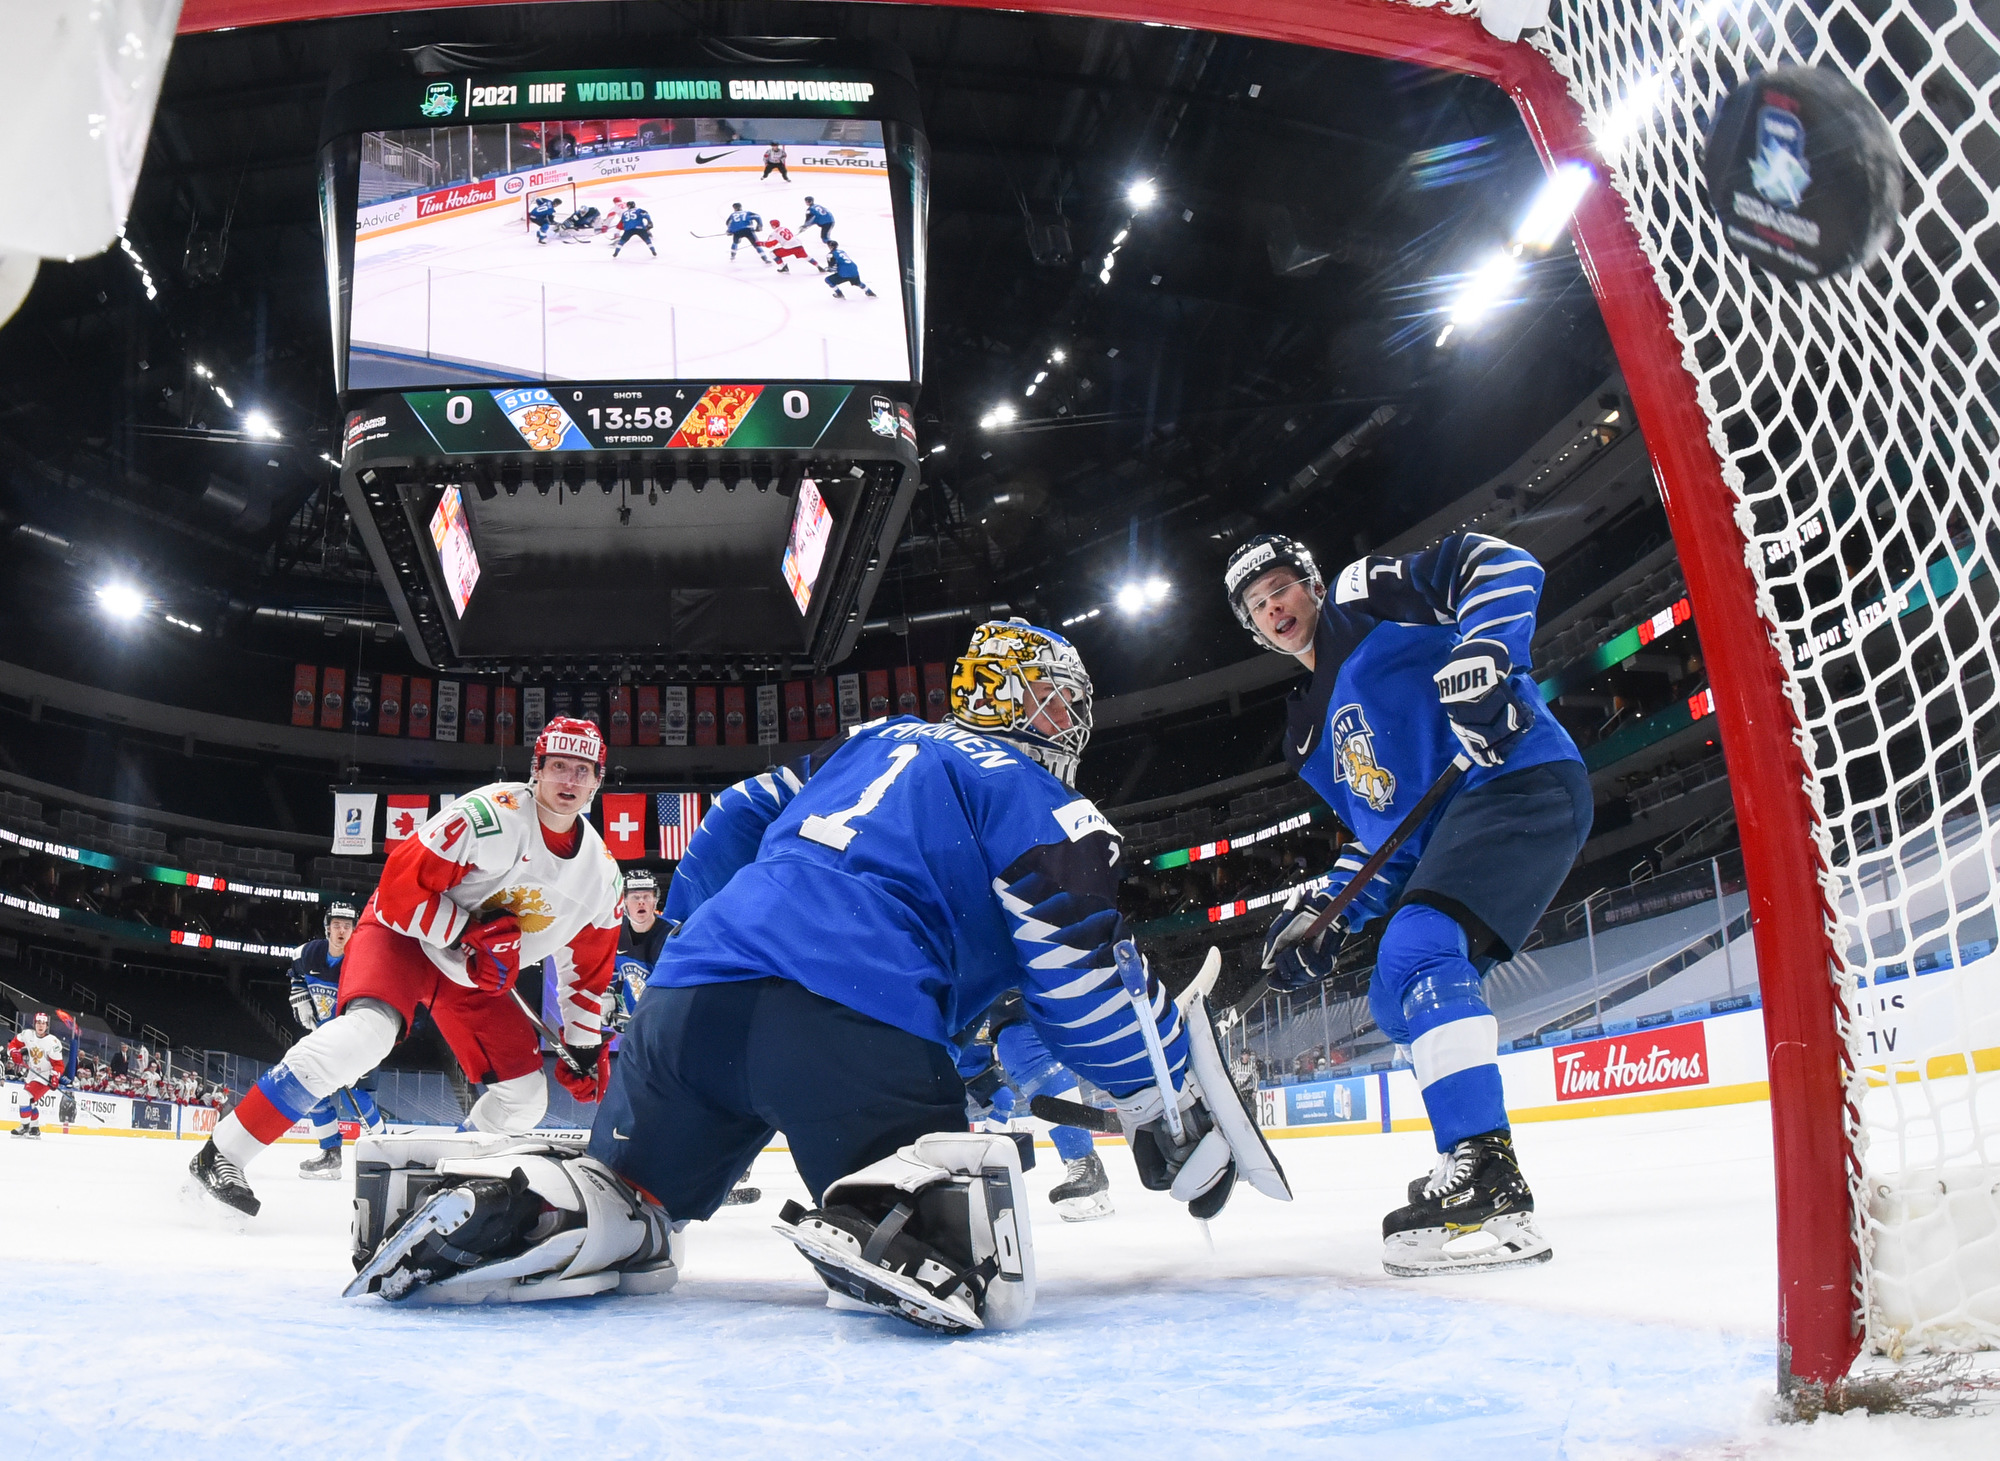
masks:
<svg viewBox="0 0 2000 1461"><path fill-rule="evenodd" d="M1438 1165L1382 1219L1382 1263L1416 1275L1546 1261L1500 1091L1500 1023L1480 989L1590 835L1582 757L1526 674L1542 566L1456 532L1358 558L1328 592L1304 544L1266 534L1236 550L1224 588L1260 644L1312 672L1286 706L1286 761L1354 833L1326 891L1272 923L1264 969L1276 989L1302 989L1334 971L1342 933L1380 927L1368 1009L1408 1047L1436 1135ZM1450 795L1300 943L1456 757L1470 769Z"/></svg>

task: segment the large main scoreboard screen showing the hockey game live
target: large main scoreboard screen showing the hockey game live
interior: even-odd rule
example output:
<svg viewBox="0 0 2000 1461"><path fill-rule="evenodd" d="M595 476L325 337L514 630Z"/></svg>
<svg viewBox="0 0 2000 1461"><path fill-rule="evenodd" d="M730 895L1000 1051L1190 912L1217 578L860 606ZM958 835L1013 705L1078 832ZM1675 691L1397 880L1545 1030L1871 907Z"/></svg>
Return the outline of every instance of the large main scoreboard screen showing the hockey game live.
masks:
<svg viewBox="0 0 2000 1461"><path fill-rule="evenodd" d="M910 378L880 122L484 130L362 136L350 390Z"/></svg>

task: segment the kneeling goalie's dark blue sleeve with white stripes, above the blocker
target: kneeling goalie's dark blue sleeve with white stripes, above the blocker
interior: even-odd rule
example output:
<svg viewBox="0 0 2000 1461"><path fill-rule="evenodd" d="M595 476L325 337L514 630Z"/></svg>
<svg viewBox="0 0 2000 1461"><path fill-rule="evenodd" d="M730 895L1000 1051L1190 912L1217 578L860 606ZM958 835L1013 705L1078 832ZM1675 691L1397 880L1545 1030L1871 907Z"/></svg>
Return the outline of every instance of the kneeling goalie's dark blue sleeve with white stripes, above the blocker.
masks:
<svg viewBox="0 0 2000 1461"><path fill-rule="evenodd" d="M994 879L994 895L1014 937L1028 1019L1050 1053L1114 1097L1154 1085L1146 1037L1112 947L1124 939L1114 855L1118 843L1096 833L1080 841L1032 847ZM1180 1079L1188 1033L1166 987L1148 977L1150 1019L1166 1061Z"/></svg>

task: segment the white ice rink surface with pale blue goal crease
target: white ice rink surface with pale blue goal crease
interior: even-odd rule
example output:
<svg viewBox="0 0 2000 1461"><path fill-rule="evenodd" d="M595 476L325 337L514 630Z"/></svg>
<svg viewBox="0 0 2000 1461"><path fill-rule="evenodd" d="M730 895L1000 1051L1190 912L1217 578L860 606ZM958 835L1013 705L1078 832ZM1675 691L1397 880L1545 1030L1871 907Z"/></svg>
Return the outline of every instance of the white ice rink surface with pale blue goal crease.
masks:
<svg viewBox="0 0 2000 1461"><path fill-rule="evenodd" d="M1768 1109L1522 1127L1556 1261L1388 1279L1380 1217L1426 1135L1280 1141L1298 1201L1200 1225L1106 1145L1118 1215L1030 1173L1032 1325L938 1339L832 1313L778 1205L690 1229L680 1287L516 1309L342 1301L348 1183L308 1147L238 1221L182 1197L192 1143L0 1141L16 1363L8 1455L66 1457L1868 1457L2000 1455L2000 1417L1778 1427ZM34 1437L16 1451L14 1439Z"/></svg>

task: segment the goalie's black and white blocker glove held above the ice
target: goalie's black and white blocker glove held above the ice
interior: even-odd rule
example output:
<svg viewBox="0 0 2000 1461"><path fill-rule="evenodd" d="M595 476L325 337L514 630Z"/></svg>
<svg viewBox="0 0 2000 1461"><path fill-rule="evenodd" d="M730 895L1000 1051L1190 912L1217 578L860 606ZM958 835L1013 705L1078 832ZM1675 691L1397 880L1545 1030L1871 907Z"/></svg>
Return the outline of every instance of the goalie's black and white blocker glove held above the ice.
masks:
<svg viewBox="0 0 2000 1461"><path fill-rule="evenodd" d="M1238 1173L1264 1197L1290 1203L1292 1187L1284 1167L1278 1165L1256 1121L1244 1111L1230 1081L1208 999L1198 995L1184 1015L1188 1069L1182 1089L1172 1093L1180 1113L1180 1137L1174 1137L1166 1119L1168 1097L1158 1085L1134 1091L1116 1103L1118 1125L1132 1149L1140 1185L1172 1193L1176 1203L1186 1203L1200 1219L1222 1211Z"/></svg>

